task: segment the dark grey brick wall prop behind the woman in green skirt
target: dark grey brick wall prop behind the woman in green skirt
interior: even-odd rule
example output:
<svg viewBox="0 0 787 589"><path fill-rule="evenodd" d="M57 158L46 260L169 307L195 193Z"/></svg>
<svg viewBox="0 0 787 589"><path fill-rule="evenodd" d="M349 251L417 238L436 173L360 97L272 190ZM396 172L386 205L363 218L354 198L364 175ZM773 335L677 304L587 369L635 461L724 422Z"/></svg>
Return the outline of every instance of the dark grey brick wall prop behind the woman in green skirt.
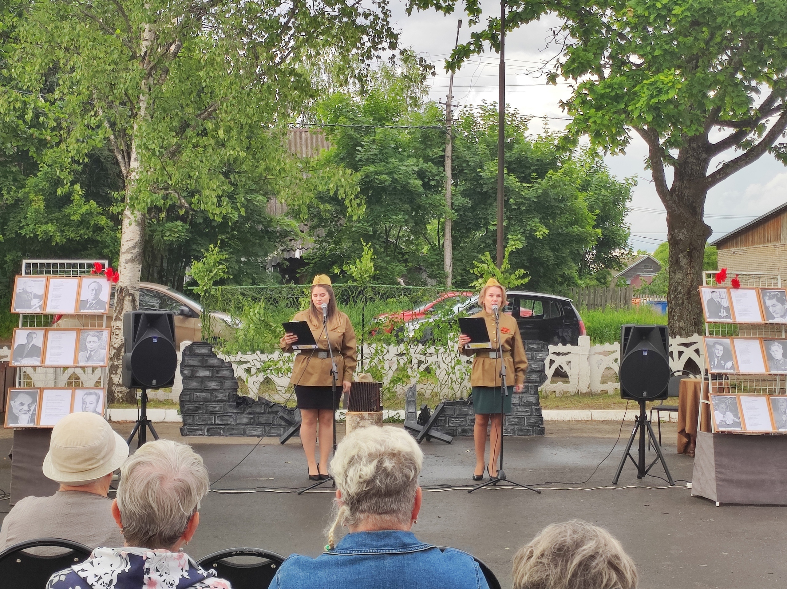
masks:
<svg viewBox="0 0 787 589"><path fill-rule="evenodd" d="M525 341L527 372L521 393L512 398L512 413L503 422L503 435L544 435L544 416L538 402L538 388L546 380L544 361L549 356L549 346L544 342ZM434 409L434 407L432 408ZM407 420L418 420L416 385L405 391ZM466 399L445 403L435 429L448 435L473 435L475 413Z"/></svg>

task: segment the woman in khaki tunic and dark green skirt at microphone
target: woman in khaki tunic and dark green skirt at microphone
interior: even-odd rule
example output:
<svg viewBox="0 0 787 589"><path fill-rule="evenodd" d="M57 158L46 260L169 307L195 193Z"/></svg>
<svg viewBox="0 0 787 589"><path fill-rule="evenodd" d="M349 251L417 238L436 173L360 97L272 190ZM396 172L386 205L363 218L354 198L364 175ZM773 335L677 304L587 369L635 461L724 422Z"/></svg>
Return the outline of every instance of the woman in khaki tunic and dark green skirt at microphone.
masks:
<svg viewBox="0 0 787 589"><path fill-rule="evenodd" d="M522 343L522 334L519 333L519 325L516 324L514 317L508 313L503 313L506 304L505 290L497 280L490 278L486 285L478 294L478 302L481 303L482 311L475 313L473 317L483 317L486 320L486 330L490 335L492 343L491 350L467 350L464 346L470 343L467 335L459 336L460 354L471 356L475 354L473 360L473 372L470 376L470 384L473 391L473 409L475 411L475 428L473 437L475 439L475 472L473 480L484 478L484 454L486 452L486 426L492 424L490 428L490 465L486 472L491 476L497 476L497 457L500 455L500 436L503 429L501 416L501 354L505 361L505 381L508 388L508 395L504 395L504 413L511 413L511 398L514 392L522 392L525 383L525 372L527 371L527 357L525 356L525 346ZM500 334L501 345L497 345L497 330L495 328L494 314L492 307L497 305L500 311Z"/></svg>

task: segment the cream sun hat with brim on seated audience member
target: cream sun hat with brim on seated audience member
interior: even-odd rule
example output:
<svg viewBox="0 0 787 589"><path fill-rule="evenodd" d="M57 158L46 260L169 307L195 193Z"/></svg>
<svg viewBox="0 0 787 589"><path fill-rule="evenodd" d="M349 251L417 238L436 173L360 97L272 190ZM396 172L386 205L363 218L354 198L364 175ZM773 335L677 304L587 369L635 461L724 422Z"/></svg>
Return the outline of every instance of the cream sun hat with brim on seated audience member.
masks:
<svg viewBox="0 0 787 589"><path fill-rule="evenodd" d="M83 411L63 417L52 428L46 478L79 487L120 469L128 444L100 415Z"/></svg>

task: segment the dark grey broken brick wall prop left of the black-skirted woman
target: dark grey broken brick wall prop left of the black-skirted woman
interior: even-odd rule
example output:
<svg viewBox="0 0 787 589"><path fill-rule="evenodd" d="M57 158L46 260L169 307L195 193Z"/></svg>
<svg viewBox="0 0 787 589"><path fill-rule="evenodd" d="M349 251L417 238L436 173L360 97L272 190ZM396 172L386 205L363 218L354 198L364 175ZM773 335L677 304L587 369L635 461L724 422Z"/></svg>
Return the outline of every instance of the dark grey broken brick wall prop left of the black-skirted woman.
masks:
<svg viewBox="0 0 787 589"><path fill-rule="evenodd" d="M231 363L216 357L207 342L183 349L180 374L181 435L279 437L297 420L297 409L265 398L249 402L249 397L240 397L238 401L238 380Z"/></svg>

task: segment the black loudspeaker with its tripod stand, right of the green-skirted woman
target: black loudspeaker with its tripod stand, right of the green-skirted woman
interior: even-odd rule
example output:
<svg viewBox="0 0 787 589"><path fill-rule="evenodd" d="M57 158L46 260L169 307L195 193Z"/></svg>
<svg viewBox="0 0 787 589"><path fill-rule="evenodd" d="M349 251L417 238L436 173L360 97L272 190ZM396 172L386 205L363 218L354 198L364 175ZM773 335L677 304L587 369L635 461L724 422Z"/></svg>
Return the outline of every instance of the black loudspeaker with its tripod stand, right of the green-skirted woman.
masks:
<svg viewBox="0 0 787 589"><path fill-rule="evenodd" d="M626 451L620 460L618 472L612 484L618 484L626 457L637 467L637 479L642 479L650 472L656 461L661 461L664 472L671 485L674 485L670 470L661 446L653 434L645 402L667 398L667 387L670 383L670 336L666 325L623 325L620 329L620 396L626 400L639 403L640 414L634 422L634 429L626 445ZM639 455L637 460L630 454L631 446L639 432ZM645 435L650 436L656 458L645 466Z"/></svg>

